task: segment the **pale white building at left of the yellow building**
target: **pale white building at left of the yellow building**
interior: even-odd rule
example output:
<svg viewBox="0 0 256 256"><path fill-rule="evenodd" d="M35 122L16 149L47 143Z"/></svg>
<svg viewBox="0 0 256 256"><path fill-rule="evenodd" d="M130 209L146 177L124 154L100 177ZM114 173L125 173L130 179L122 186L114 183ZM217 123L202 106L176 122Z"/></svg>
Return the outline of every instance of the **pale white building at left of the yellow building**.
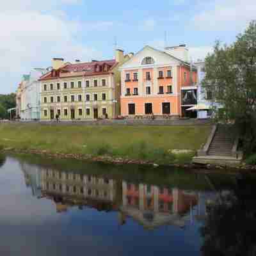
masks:
<svg viewBox="0 0 256 256"><path fill-rule="evenodd" d="M20 83L19 115L21 120L40 119L40 82L39 77L46 70L32 70L29 75L24 75Z"/></svg>

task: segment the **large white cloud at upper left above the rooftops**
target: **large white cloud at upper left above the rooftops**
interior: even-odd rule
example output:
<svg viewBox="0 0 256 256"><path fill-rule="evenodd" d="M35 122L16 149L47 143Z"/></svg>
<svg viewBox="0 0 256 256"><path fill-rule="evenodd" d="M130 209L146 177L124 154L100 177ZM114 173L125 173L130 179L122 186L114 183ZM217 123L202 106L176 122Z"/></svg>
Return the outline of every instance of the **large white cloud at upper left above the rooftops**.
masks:
<svg viewBox="0 0 256 256"><path fill-rule="evenodd" d="M79 42L81 31L86 30L84 24L67 19L67 13L61 10L65 4L78 3L79 0L9 0L1 4L0 93L15 92L22 74L35 67L48 67L52 57L67 61L102 57ZM45 6L49 10L45 11Z"/></svg>

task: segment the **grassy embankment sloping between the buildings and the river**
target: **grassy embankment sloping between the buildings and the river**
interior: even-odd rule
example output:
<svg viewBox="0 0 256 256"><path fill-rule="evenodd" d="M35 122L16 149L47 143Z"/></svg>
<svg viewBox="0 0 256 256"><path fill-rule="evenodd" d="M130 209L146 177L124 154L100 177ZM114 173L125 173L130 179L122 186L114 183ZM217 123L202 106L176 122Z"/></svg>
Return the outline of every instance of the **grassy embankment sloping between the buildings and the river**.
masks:
<svg viewBox="0 0 256 256"><path fill-rule="evenodd" d="M195 151L207 140L210 131L209 125L152 127L0 124L0 148L182 164L191 161ZM173 149L193 151L173 154Z"/></svg>

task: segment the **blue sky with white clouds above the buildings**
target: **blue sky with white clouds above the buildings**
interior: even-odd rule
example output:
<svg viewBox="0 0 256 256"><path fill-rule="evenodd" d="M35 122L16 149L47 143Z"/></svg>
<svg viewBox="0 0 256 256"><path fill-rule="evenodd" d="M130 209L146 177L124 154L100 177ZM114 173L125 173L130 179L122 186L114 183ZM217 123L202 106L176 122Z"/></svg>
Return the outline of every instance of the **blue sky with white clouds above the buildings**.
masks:
<svg viewBox="0 0 256 256"><path fill-rule="evenodd" d="M191 58L202 59L216 40L234 42L255 13L255 0L3 1L0 94L15 92L22 74L50 67L54 57L112 59L116 45L136 53L187 44Z"/></svg>

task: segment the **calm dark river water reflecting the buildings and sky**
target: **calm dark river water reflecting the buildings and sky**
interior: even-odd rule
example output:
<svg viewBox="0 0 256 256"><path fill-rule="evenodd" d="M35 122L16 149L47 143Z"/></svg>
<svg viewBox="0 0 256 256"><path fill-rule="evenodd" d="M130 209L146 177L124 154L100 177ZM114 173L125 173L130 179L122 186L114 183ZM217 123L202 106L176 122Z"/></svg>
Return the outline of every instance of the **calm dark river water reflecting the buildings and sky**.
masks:
<svg viewBox="0 0 256 256"><path fill-rule="evenodd" d="M254 177L28 156L0 166L1 256L256 255Z"/></svg>

